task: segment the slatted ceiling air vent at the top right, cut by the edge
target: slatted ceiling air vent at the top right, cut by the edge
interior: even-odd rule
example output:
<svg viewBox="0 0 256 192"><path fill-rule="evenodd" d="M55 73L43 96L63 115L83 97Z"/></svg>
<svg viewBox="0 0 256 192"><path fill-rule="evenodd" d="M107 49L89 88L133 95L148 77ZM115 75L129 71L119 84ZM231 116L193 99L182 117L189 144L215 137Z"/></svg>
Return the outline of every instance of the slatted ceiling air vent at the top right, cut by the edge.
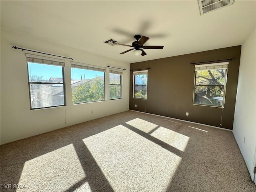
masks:
<svg viewBox="0 0 256 192"><path fill-rule="evenodd" d="M200 15L234 4L235 0L198 0Z"/></svg>

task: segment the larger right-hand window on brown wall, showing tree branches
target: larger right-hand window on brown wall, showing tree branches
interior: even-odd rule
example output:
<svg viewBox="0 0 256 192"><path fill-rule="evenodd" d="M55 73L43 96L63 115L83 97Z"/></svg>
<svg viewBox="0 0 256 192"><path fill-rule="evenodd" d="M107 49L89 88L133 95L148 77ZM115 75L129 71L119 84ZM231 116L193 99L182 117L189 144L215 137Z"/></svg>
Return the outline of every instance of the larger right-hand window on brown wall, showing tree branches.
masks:
<svg viewBox="0 0 256 192"><path fill-rule="evenodd" d="M196 105L224 107L228 62L195 66Z"/></svg>

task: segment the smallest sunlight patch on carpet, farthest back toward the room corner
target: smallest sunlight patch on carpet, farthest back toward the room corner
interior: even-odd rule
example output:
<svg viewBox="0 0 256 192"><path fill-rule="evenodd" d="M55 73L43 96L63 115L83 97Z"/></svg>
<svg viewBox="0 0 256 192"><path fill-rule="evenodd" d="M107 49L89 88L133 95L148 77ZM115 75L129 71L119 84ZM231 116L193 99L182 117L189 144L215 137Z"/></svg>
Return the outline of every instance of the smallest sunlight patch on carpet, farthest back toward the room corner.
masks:
<svg viewBox="0 0 256 192"><path fill-rule="evenodd" d="M145 121L145 120L142 120L140 118L136 118L136 119L133 119L133 120L130 120L128 122L126 122L128 125L131 125L143 132L150 132L152 131L154 128L157 128L158 125L154 124L154 123L150 123L148 121Z"/></svg>

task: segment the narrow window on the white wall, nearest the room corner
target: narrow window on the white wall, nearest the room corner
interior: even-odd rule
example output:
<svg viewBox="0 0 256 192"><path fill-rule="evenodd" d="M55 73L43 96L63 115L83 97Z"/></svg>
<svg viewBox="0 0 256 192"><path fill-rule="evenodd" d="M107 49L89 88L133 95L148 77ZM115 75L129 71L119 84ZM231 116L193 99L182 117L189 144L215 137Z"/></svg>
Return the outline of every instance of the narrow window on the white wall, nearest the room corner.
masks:
<svg viewBox="0 0 256 192"><path fill-rule="evenodd" d="M122 72L109 70L109 99L121 98L121 76Z"/></svg>

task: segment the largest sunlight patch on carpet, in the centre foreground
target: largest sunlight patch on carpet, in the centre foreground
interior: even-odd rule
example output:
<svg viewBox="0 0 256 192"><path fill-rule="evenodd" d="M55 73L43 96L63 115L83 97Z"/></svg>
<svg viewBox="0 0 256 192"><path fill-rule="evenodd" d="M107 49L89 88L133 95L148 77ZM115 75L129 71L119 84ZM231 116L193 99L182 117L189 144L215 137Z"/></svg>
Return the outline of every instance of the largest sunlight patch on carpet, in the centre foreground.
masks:
<svg viewBox="0 0 256 192"><path fill-rule="evenodd" d="M119 125L83 139L115 192L162 192L181 158Z"/></svg>

